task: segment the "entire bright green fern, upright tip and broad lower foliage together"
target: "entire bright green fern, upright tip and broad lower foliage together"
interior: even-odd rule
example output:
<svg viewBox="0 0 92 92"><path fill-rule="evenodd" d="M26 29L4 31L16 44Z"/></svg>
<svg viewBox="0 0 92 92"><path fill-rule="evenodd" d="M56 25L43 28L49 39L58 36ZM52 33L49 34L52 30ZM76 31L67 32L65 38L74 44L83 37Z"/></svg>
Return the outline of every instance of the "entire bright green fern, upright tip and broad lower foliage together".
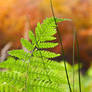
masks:
<svg viewBox="0 0 92 92"><path fill-rule="evenodd" d="M56 18L57 22L64 19ZM29 32L31 42L21 39L22 45L28 49L9 51L9 55L18 59L8 58L0 63L0 92L68 92L67 79L63 64L48 58L60 56L44 48L53 48L58 43L55 40L56 24L54 18L47 18L42 24L38 23L35 31Z"/></svg>

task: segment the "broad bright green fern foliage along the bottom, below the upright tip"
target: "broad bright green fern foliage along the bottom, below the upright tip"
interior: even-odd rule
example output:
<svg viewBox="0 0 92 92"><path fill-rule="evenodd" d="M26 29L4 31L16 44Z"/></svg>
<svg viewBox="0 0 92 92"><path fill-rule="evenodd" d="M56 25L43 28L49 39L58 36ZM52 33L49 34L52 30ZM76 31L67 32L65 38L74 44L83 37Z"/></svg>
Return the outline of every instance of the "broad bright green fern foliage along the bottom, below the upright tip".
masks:
<svg viewBox="0 0 92 92"><path fill-rule="evenodd" d="M68 85L63 64L48 59L44 59L44 63L46 68L41 58L32 57L30 62L10 58L0 65L2 68L7 68L7 72L0 73L1 87L3 87L2 84L5 82L5 87L7 85L9 88L14 87L14 91L11 92L17 92L17 90L25 92L23 90L26 88L27 92L66 92Z"/></svg>

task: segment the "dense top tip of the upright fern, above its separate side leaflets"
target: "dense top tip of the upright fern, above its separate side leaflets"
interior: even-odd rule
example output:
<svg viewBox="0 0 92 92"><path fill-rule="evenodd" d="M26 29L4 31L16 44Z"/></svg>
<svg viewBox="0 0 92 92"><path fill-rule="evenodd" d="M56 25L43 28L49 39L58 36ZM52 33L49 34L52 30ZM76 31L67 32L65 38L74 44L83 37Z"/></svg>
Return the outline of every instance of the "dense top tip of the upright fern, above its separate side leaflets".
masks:
<svg viewBox="0 0 92 92"><path fill-rule="evenodd" d="M57 22L62 22L64 19L56 18ZM46 39L49 36L53 36L56 33L56 24L54 22L54 18L47 18L43 21L42 24L38 23L36 27L36 39L37 41L49 41ZM44 38L45 37L45 38Z"/></svg>

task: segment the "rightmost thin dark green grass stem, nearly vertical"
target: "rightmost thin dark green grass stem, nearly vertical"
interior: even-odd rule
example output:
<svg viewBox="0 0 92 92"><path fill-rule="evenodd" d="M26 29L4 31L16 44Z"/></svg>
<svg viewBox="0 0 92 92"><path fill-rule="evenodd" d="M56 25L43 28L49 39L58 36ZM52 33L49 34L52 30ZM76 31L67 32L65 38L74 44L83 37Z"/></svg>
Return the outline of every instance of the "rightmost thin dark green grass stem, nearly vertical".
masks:
<svg viewBox="0 0 92 92"><path fill-rule="evenodd" d="M77 60L78 60L79 92L81 92L79 42L78 42L78 39L77 39L77 32L75 31L75 33L76 33L76 48L77 48Z"/></svg>

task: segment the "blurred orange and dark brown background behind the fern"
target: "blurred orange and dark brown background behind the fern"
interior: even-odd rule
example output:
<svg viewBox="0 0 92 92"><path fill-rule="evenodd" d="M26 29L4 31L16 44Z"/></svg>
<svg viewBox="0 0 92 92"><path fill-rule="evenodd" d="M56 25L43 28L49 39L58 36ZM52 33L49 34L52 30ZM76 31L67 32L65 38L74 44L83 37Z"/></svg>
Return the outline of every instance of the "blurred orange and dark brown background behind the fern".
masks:
<svg viewBox="0 0 92 92"><path fill-rule="evenodd" d="M80 61L85 72L92 61L92 0L52 0L52 2L56 17L72 19L58 23L65 57L67 61L72 62L73 31L77 30ZM50 0L0 0L0 56L8 50L22 48L21 37L28 39L28 30L35 32L37 22L51 16ZM55 36L58 42L57 34ZM11 44L7 47L8 43ZM49 50L61 53L60 44ZM58 61L61 59L62 56L55 58ZM75 62L77 62L76 50Z"/></svg>

